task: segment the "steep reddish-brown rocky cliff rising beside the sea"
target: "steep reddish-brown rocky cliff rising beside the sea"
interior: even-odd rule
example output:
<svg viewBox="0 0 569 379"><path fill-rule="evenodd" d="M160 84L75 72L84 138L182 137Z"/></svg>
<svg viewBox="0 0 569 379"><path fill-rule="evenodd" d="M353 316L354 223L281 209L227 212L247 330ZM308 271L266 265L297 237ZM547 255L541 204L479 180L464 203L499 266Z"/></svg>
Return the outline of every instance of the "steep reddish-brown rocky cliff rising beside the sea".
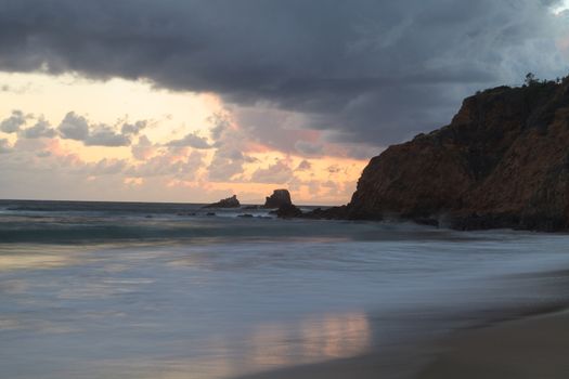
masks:
<svg viewBox="0 0 569 379"><path fill-rule="evenodd" d="M396 213L456 228L569 228L569 80L500 87L451 125L373 158L351 219Z"/></svg>

